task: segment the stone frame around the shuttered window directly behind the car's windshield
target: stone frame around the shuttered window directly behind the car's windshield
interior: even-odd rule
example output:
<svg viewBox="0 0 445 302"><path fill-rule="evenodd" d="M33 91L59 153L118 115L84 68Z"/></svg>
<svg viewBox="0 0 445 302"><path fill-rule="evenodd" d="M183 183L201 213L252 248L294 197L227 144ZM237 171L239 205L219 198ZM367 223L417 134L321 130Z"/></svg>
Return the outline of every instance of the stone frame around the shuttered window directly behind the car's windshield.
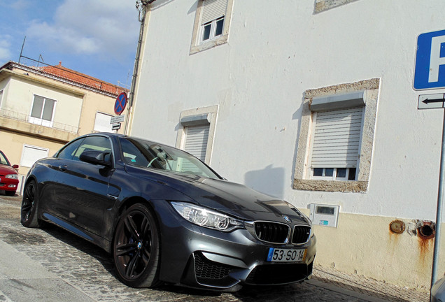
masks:
<svg viewBox="0 0 445 302"><path fill-rule="evenodd" d="M218 117L218 105L195 108L189 110L183 110L181 115L179 116L179 125L178 125L178 136L176 137L176 145L175 147L178 149L183 148L185 142L185 126L181 123L184 120L194 120L194 117L200 117L206 115L206 120L209 121L209 138L207 141L206 148L206 159L204 162L208 165L211 163L212 150L213 150L213 140L215 138L215 130L216 130L216 119Z"/></svg>

